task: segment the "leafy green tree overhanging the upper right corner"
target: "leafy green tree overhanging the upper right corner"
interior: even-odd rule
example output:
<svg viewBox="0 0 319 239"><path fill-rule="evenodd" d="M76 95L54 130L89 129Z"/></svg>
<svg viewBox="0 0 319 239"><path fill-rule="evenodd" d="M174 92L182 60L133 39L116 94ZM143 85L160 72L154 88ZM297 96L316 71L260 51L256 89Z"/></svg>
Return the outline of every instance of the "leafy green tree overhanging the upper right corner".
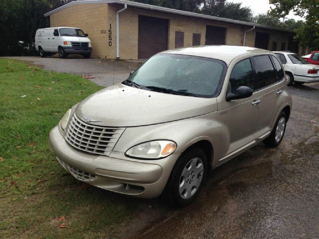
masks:
<svg viewBox="0 0 319 239"><path fill-rule="evenodd" d="M319 50L319 0L269 0L275 7L270 13L278 17L284 17L291 10L295 14L306 19L296 29L296 40L302 46L308 46L311 50Z"/></svg>

